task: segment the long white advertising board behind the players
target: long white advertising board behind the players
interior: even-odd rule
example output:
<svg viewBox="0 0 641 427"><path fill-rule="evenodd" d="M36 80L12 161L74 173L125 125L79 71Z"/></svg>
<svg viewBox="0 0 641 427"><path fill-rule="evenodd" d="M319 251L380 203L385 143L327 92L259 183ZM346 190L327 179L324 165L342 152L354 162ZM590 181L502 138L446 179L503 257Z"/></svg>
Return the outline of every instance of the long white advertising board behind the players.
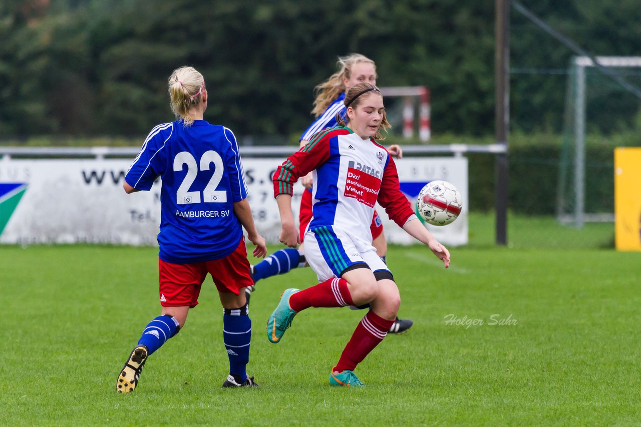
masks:
<svg viewBox="0 0 641 427"><path fill-rule="evenodd" d="M245 159L254 220L268 242L278 243L280 220L271 176L284 159ZM160 180L151 191L125 194L131 160L0 160L0 243L108 243L155 245L160 223ZM397 162L401 190L414 199L431 180L447 180L464 197L459 219L430 227L444 244L467 243L467 159L406 158ZM294 186L297 217L301 185ZM412 238L379 207L388 241Z"/></svg>

